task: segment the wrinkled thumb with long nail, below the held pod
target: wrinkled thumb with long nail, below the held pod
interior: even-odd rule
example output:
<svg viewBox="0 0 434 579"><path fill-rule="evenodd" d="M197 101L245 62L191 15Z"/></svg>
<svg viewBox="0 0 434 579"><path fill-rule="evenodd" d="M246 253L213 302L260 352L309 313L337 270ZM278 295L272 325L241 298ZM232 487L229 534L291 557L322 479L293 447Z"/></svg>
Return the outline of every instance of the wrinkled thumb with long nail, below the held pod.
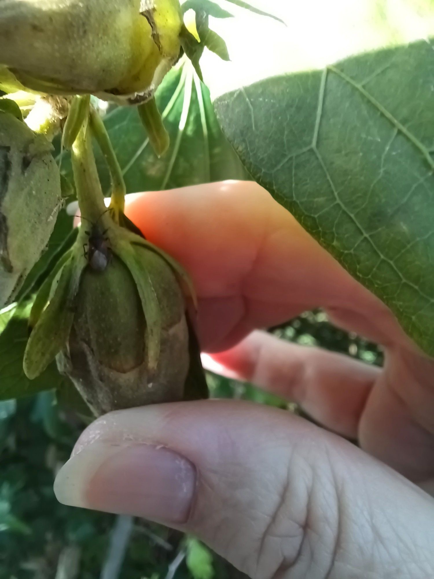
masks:
<svg viewBox="0 0 434 579"><path fill-rule="evenodd" d="M278 409L113 412L84 431L54 490L65 504L194 533L255 579L434 576L431 497Z"/></svg>

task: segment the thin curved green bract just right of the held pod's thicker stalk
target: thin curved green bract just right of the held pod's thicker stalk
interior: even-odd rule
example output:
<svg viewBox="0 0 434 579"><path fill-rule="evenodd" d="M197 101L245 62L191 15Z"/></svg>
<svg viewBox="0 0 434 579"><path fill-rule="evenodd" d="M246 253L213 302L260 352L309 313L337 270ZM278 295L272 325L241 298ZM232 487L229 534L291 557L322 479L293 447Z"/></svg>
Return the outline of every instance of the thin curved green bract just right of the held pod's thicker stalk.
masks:
<svg viewBox="0 0 434 579"><path fill-rule="evenodd" d="M104 155L110 172L112 180L112 200L110 207L114 210L115 215L119 215L119 213L123 213L124 211L127 188L122 174L122 169L120 168L112 142L106 131L105 124L102 122L101 116L97 111L95 111L95 109L90 112L90 129L100 146L102 155Z"/></svg>

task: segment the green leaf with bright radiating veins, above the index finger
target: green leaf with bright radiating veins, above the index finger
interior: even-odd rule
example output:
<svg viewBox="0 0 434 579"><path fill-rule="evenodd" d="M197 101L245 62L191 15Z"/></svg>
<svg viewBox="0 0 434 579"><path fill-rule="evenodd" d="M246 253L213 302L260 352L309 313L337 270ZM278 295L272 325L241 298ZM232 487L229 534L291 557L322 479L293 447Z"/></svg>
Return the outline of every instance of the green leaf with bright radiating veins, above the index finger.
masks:
<svg viewBox="0 0 434 579"><path fill-rule="evenodd" d="M104 123L127 185L127 192L160 190L223 179L246 179L244 167L217 122L207 88L189 62L165 77L156 102L170 146L158 159L133 107L116 107ZM110 178L100 151L95 149L105 192ZM66 164L66 161L65 161Z"/></svg>

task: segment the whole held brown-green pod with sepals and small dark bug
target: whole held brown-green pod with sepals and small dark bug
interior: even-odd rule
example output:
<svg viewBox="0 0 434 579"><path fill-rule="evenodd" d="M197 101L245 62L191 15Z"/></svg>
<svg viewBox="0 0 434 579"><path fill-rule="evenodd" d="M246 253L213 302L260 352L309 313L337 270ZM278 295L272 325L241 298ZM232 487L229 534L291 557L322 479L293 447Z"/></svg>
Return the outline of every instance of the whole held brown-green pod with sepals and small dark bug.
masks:
<svg viewBox="0 0 434 579"><path fill-rule="evenodd" d="M185 272L181 278L172 258L108 214L102 220L104 233L97 226L80 231L71 256L47 282L51 296L45 284L36 298L26 375L35 378L56 356L96 416L207 397L181 289Z"/></svg>

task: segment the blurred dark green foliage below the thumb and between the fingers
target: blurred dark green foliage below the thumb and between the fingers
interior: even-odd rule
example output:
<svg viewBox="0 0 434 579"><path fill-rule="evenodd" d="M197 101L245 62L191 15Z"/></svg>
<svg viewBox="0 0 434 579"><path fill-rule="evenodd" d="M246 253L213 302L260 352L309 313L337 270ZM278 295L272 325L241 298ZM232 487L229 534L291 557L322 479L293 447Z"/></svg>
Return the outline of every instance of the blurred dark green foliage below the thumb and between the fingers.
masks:
<svg viewBox="0 0 434 579"><path fill-rule="evenodd" d="M381 365L373 343L333 327L321 310L274 328L282 339ZM212 397L299 412L255 387L208 374ZM140 519L58 504L57 469L83 428L49 391L0 402L0 579L223 579L241 577L191 537ZM125 549L124 549L125 545ZM120 565L119 565L120 563Z"/></svg>

